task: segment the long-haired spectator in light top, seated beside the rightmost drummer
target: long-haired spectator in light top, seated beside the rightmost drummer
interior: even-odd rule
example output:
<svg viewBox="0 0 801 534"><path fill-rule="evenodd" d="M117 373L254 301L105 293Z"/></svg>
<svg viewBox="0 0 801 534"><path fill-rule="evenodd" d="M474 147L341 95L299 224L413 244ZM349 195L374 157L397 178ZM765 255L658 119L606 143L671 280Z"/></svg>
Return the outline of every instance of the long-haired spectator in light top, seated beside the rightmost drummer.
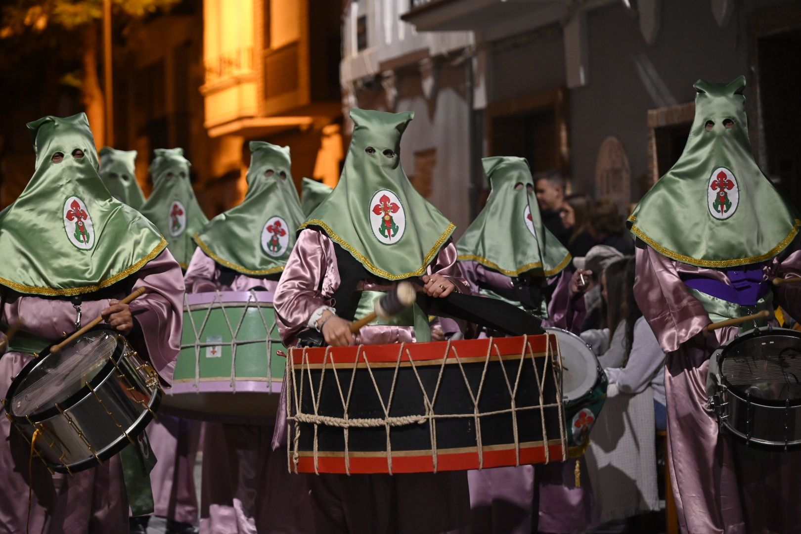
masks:
<svg viewBox="0 0 801 534"><path fill-rule="evenodd" d="M654 424L667 426L665 353L634 300L634 257L610 263L601 275L606 327L582 332L609 379L606 395L635 395L654 388Z"/></svg>

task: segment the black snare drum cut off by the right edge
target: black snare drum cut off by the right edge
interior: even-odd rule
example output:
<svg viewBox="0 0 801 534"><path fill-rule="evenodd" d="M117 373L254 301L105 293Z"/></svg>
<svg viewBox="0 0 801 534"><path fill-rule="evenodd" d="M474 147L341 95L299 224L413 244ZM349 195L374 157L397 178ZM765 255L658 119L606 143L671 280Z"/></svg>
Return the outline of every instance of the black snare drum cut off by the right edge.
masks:
<svg viewBox="0 0 801 534"><path fill-rule="evenodd" d="M801 332L761 327L710 361L720 428L758 448L801 448Z"/></svg>

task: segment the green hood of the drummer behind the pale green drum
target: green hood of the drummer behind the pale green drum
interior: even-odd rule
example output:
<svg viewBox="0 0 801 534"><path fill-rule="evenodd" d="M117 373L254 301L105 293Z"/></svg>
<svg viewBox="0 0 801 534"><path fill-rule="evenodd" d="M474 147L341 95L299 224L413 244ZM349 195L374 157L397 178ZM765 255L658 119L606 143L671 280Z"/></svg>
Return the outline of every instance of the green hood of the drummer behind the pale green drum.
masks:
<svg viewBox="0 0 801 534"><path fill-rule="evenodd" d="M245 275L284 271L304 222L292 181L289 147L252 141L248 193L237 207L217 215L195 242L211 259Z"/></svg>

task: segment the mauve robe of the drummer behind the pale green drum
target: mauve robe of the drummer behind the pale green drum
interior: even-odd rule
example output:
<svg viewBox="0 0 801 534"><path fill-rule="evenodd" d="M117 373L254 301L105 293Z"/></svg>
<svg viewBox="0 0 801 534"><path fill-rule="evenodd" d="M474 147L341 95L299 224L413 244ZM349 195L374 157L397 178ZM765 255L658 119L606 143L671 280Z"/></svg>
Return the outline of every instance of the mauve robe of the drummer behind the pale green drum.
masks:
<svg viewBox="0 0 801 534"><path fill-rule="evenodd" d="M275 279L236 274L220 282L219 264L195 249L187 292L276 288ZM306 477L291 475L286 451L273 452L274 424L203 423L200 532L265 534L314 532Z"/></svg>

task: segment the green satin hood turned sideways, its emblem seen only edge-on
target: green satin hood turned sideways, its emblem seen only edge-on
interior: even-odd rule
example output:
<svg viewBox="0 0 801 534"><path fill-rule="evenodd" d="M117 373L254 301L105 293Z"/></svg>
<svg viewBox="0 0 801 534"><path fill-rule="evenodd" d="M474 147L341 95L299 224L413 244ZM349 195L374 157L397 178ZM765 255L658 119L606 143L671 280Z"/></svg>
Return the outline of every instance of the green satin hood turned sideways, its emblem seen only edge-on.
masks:
<svg viewBox="0 0 801 534"><path fill-rule="evenodd" d="M553 276L562 271L570 253L542 223L529 163L506 156L481 162L489 178L489 198L459 239L459 259L508 276L529 271Z"/></svg>

